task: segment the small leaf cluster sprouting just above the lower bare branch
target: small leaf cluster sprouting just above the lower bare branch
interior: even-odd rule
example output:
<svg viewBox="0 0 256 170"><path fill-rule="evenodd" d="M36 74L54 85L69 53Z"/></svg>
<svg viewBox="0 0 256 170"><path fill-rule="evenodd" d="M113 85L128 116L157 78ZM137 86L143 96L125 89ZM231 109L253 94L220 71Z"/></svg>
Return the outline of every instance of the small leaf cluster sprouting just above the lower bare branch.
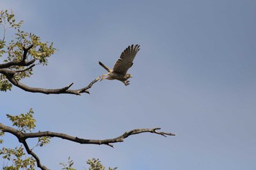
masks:
<svg viewBox="0 0 256 170"><path fill-rule="evenodd" d="M8 115L7 117L12 121L13 126L17 126L19 131L26 132L26 131L32 131L36 125L36 120L33 117L33 109L29 109L29 112L26 114L20 114L20 115Z"/></svg>

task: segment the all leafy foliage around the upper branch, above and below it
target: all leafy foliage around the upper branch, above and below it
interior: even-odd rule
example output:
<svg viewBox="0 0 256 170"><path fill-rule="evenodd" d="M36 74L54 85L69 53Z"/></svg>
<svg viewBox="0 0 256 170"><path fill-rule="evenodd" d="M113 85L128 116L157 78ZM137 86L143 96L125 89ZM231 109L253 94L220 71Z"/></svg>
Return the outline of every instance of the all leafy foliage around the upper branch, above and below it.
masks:
<svg viewBox="0 0 256 170"><path fill-rule="evenodd" d="M26 31L22 31L21 25L23 21L16 22L15 15L13 12L8 12L7 10L2 10L0 12L0 26L2 26L3 35L2 39L0 39L0 57L5 57L4 63L10 61L22 61L23 49L26 47L31 47L28 51L26 57L27 60L34 60L35 64L45 66L48 64L48 58L50 55L53 55L56 52L56 48L53 47L53 43L49 42L41 42L39 36L35 34L31 34ZM13 39L10 40L9 43L5 41L6 32L8 29L12 29L15 31ZM11 70L19 71L24 70L24 66L10 66ZM22 80L26 77L31 77L33 74L32 68L28 69L24 72L18 72L15 74L16 80ZM12 84L7 80L4 75L0 75L0 90L7 91L12 89Z"/></svg>

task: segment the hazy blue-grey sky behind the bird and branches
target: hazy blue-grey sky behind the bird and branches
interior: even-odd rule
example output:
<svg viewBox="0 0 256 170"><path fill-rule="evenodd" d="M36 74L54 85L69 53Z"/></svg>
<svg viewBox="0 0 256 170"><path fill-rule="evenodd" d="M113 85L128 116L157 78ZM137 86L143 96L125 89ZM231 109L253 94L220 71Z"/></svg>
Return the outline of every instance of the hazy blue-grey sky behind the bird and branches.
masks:
<svg viewBox="0 0 256 170"><path fill-rule="evenodd" d="M129 86L105 80L83 96L13 88L1 93L2 123L8 124L5 114L32 107L37 131L89 139L133 128L177 134L131 136L114 149L52 139L35 149L48 168L61 169L70 156L77 169L88 158L122 170L255 169L256 1L1 1L0 7L58 49L48 66L23 80L33 87L81 88L105 74L98 61L113 66L128 45L140 45Z"/></svg>

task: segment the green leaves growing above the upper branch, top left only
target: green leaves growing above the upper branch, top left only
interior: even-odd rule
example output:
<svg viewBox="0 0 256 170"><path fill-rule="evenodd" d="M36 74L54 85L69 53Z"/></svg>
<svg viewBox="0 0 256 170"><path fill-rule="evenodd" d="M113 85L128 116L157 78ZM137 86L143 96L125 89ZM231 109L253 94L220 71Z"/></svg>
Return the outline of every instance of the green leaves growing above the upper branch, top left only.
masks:
<svg viewBox="0 0 256 170"><path fill-rule="evenodd" d="M8 10L2 10L0 12L0 25L4 27L3 39L0 41L0 56L4 53L8 53L7 61L20 61L23 57L23 47L29 47L33 45L33 48L29 51L31 58L36 59L42 65L47 64L47 58L56 52L53 47L53 43L41 42L39 36L35 34L28 33L26 31L20 30L23 20L16 22L15 15L13 12L8 12ZM14 39L10 40L10 44L6 47L5 32L8 28L14 28L16 30ZM7 50L3 50L6 47Z"/></svg>

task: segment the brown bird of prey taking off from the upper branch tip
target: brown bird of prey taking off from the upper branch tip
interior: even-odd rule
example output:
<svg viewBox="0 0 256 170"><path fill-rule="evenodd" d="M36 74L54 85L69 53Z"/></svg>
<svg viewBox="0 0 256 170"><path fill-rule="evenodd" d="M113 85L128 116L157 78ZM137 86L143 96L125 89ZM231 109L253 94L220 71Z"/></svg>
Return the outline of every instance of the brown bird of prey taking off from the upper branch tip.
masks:
<svg viewBox="0 0 256 170"><path fill-rule="evenodd" d="M124 82L124 85L129 85L129 78L132 77L131 74L127 74L128 69L132 66L132 61L135 55L140 50L140 45L131 45L127 47L123 53L121 53L120 58L116 61L113 69L108 68L103 63L99 61L99 65L108 71L108 74L102 75L102 80L119 80ZM106 77L105 77L106 76Z"/></svg>

